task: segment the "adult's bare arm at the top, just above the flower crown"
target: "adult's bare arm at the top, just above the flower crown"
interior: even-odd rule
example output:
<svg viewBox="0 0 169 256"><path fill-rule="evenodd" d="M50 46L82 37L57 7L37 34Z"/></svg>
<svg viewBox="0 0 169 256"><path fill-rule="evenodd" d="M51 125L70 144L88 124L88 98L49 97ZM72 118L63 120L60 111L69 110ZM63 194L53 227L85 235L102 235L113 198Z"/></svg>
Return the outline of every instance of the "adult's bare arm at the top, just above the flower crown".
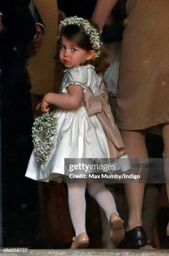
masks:
<svg viewBox="0 0 169 256"><path fill-rule="evenodd" d="M97 0L91 20L98 26L99 31L103 29L108 15L116 3L117 0Z"/></svg>

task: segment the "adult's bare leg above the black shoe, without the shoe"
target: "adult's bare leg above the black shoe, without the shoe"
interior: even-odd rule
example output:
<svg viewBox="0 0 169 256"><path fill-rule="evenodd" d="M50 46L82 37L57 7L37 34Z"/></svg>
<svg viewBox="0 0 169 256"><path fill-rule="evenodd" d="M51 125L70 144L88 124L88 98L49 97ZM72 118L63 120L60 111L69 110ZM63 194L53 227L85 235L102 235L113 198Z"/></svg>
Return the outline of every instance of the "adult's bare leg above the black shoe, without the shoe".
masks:
<svg viewBox="0 0 169 256"><path fill-rule="evenodd" d="M121 136L130 158L148 158L144 131L121 131ZM129 207L129 221L126 231L142 225L143 183L124 184Z"/></svg>

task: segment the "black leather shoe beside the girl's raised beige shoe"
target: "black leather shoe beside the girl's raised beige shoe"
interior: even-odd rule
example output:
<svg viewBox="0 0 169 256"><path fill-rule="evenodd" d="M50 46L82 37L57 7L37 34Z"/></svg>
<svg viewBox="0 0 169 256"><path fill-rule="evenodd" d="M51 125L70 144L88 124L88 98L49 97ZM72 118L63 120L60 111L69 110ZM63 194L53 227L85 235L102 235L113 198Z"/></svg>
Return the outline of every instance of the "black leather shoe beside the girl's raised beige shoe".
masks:
<svg viewBox="0 0 169 256"><path fill-rule="evenodd" d="M125 232L124 239L118 248L137 249L147 245L147 235L144 228L138 226Z"/></svg>

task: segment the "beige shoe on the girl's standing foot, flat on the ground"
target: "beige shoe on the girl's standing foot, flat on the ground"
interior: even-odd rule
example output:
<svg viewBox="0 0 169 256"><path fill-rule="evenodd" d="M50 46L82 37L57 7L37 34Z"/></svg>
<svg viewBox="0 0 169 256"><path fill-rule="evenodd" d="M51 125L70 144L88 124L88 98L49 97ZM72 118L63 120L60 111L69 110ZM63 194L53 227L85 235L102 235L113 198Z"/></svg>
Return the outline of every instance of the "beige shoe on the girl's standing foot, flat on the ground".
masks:
<svg viewBox="0 0 169 256"><path fill-rule="evenodd" d="M89 243L89 238L86 232L81 233L77 237L73 237L73 243L71 249L86 248Z"/></svg>

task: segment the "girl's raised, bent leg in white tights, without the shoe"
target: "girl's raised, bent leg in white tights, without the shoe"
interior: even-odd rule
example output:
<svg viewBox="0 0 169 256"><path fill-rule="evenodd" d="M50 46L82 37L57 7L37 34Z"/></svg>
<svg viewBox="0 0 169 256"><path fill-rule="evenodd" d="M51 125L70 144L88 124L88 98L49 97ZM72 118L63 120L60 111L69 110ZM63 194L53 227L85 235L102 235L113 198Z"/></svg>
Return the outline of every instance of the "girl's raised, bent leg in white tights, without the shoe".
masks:
<svg viewBox="0 0 169 256"><path fill-rule="evenodd" d="M98 202L98 205L105 211L108 221L113 212L119 215L114 197L103 183L88 183L88 193Z"/></svg>

